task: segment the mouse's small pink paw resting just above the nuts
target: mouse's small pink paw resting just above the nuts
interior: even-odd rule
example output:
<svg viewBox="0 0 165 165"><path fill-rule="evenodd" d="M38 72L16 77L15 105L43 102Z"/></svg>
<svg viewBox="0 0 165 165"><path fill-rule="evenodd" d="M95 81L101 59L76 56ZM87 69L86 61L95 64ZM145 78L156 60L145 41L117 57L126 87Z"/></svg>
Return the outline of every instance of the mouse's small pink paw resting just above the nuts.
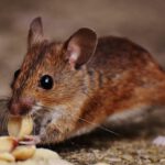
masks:
<svg viewBox="0 0 165 165"><path fill-rule="evenodd" d="M41 142L40 136L37 135L26 135L24 136L23 141L20 141L20 144L24 144L24 145L36 145Z"/></svg>

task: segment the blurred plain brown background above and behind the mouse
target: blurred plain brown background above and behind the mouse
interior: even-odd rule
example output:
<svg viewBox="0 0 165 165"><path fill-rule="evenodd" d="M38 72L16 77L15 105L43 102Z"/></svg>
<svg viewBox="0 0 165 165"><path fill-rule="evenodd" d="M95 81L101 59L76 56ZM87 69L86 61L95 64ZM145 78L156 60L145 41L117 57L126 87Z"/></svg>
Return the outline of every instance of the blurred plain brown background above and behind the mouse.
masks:
<svg viewBox="0 0 165 165"><path fill-rule="evenodd" d="M29 24L42 16L45 35L65 41L82 26L127 36L165 66L164 0L0 0L0 97L26 52Z"/></svg>

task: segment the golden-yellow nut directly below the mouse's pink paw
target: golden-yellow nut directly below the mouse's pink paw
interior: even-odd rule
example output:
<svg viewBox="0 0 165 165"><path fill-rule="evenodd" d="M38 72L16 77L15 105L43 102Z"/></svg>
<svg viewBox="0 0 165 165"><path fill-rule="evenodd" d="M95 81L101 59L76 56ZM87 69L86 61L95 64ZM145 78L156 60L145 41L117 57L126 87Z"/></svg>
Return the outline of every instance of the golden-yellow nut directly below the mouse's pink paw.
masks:
<svg viewBox="0 0 165 165"><path fill-rule="evenodd" d="M25 161L34 155L35 150L36 147L34 145L20 145L15 147L12 155L16 161Z"/></svg>

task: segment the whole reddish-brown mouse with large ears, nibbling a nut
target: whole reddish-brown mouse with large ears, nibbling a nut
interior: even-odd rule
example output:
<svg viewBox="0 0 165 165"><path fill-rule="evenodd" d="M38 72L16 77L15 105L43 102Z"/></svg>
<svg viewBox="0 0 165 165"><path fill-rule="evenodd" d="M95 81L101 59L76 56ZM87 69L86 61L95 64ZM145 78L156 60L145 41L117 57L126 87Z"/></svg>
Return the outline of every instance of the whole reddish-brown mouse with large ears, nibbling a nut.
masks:
<svg viewBox="0 0 165 165"><path fill-rule="evenodd" d="M113 113L163 105L164 91L164 70L141 46L122 37L97 38L89 29L64 43L50 42L36 18L9 111L30 113L41 143L57 143L94 130Z"/></svg>

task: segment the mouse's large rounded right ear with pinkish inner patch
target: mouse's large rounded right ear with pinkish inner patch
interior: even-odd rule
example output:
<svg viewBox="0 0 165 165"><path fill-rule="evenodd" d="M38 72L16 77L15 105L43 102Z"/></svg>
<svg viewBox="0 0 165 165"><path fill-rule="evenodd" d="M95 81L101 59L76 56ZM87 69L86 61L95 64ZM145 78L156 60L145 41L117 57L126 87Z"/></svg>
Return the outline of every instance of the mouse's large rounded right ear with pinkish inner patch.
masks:
<svg viewBox="0 0 165 165"><path fill-rule="evenodd" d="M97 34L87 28L78 30L66 41L65 55L73 69L79 68L89 61L95 53L97 42Z"/></svg>

